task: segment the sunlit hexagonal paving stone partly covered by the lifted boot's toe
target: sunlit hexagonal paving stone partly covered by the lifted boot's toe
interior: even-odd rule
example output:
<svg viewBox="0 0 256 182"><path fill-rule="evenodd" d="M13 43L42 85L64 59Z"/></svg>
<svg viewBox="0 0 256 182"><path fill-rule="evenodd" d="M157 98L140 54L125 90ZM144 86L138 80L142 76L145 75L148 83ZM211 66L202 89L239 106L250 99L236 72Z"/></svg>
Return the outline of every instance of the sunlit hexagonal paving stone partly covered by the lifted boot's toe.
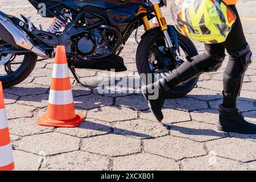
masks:
<svg viewBox="0 0 256 182"><path fill-rule="evenodd" d="M174 109L163 109L162 111L164 118L161 123L163 124L191 121L191 118L187 111L180 111ZM146 119L148 121L158 122L158 120L155 118L154 114L150 110L141 111L140 118Z"/></svg>

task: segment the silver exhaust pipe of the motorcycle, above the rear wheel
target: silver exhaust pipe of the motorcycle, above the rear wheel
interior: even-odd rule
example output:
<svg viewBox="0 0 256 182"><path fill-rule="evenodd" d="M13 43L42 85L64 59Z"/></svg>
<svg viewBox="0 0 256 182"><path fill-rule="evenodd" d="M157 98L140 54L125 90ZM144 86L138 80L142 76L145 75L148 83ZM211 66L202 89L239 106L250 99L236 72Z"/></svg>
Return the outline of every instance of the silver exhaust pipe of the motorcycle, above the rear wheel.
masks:
<svg viewBox="0 0 256 182"><path fill-rule="evenodd" d="M35 44L32 43L26 32L15 26L15 24L13 24L13 22L6 18L2 13L0 14L0 31L3 34L1 35L1 39L11 44L11 46L15 48L22 47L40 57L49 57L47 53L43 51L43 49L35 46Z"/></svg>

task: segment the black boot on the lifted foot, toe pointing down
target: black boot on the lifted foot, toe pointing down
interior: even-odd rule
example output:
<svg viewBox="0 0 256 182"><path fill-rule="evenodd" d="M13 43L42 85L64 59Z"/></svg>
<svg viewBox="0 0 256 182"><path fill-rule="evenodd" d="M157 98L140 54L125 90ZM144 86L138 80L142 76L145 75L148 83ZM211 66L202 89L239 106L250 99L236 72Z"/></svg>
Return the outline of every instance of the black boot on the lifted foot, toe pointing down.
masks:
<svg viewBox="0 0 256 182"><path fill-rule="evenodd" d="M158 121L163 120L162 107L164 105L164 100L166 99L166 94L169 90L170 88L168 88L168 86L164 88L164 86L160 84L160 81L142 86L142 93L147 100L148 107L152 113L154 113Z"/></svg>

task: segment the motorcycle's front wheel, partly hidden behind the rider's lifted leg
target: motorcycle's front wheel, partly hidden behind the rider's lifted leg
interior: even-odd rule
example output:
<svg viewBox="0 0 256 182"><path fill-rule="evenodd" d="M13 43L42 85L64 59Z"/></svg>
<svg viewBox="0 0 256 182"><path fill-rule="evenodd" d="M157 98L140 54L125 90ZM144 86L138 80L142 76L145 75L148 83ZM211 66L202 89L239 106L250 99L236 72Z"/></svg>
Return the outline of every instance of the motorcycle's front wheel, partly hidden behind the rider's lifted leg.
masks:
<svg viewBox="0 0 256 182"><path fill-rule="evenodd" d="M187 61L186 57L193 57L196 56L197 49L195 45L189 40L187 37L177 33L178 40L179 40L179 47L180 47L180 61L176 61L176 65L174 65L173 69L178 68L184 61ZM137 69L139 75L142 73L146 74L146 81L145 77L142 78L144 84L148 84L151 82L152 79L159 79L162 77L167 77L172 73L173 69L167 69L162 61L159 60L159 55L164 57L170 57L170 51L167 48L166 39L164 38L163 34L155 34L155 35L148 35L144 36L144 38L139 43L137 49ZM150 81L148 73L152 77ZM176 97L183 97L195 88L199 77L193 78L188 82L185 82L182 85L175 86L170 93L168 93L168 98L176 98Z"/></svg>

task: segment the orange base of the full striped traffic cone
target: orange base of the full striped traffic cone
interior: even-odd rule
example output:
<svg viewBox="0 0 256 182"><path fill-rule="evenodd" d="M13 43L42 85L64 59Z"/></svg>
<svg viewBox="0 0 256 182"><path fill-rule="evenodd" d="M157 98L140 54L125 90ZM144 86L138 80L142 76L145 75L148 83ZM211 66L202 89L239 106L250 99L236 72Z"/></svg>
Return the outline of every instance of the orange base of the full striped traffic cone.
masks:
<svg viewBox="0 0 256 182"><path fill-rule="evenodd" d="M85 115L76 114L75 118L67 121L57 121L55 119L50 119L47 114L44 114L36 124L40 126L53 126L53 127L77 127L80 126L82 121L84 121Z"/></svg>

